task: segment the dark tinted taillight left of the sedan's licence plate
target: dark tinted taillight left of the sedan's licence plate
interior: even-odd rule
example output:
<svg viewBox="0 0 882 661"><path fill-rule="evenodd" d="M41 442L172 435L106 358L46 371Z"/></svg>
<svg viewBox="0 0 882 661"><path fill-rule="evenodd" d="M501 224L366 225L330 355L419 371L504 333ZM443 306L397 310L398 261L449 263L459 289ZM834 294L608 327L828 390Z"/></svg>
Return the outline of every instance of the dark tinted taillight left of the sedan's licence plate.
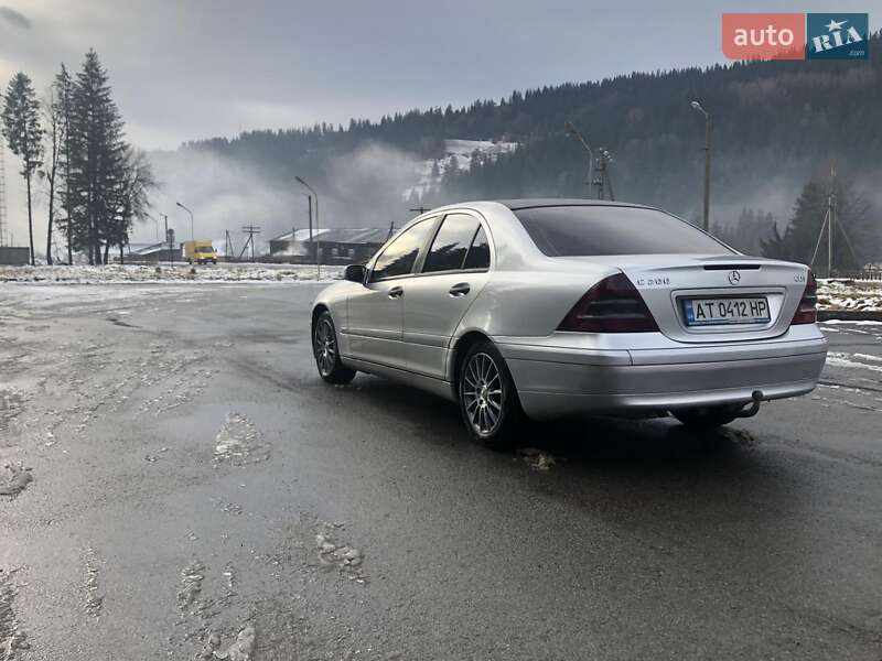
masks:
<svg viewBox="0 0 882 661"><path fill-rule="evenodd" d="M649 308L624 273L588 290L558 326L577 333L650 333L658 330Z"/></svg>

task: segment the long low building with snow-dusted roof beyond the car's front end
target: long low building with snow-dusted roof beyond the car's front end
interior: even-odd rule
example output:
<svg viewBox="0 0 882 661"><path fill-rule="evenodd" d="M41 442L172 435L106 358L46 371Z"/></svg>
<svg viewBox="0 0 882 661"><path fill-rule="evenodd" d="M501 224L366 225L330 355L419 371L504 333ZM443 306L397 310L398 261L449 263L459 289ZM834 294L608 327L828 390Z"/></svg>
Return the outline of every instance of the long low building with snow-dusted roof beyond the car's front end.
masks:
<svg viewBox="0 0 882 661"><path fill-rule="evenodd" d="M388 228L358 227L313 230L310 240L309 229L287 232L269 241L272 259L312 262L315 251L321 248L322 263L343 264L367 261L389 238Z"/></svg>

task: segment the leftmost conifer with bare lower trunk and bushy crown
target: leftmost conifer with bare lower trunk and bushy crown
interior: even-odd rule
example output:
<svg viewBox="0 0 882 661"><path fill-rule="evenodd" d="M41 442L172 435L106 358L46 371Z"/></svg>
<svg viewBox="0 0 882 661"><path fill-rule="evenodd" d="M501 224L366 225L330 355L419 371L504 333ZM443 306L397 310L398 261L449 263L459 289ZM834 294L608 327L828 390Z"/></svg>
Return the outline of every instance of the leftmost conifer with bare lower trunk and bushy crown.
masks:
<svg viewBox="0 0 882 661"><path fill-rule="evenodd" d="M34 219L31 180L43 153L40 104L31 78L19 72L12 77L3 99L2 131L10 151L22 160L21 175L28 188L28 234L31 240L31 266L34 264Z"/></svg>

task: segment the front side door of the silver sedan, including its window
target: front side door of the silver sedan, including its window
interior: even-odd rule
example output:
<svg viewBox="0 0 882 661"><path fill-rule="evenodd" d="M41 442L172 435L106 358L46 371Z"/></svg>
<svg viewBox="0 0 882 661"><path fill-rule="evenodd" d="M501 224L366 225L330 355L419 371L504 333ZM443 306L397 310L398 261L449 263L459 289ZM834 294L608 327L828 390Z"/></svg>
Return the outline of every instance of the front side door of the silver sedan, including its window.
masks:
<svg viewBox="0 0 882 661"><path fill-rule="evenodd" d="M364 285L349 294L345 333L353 358L406 367L404 299L435 225L437 218L427 218L398 235L369 264Z"/></svg>

